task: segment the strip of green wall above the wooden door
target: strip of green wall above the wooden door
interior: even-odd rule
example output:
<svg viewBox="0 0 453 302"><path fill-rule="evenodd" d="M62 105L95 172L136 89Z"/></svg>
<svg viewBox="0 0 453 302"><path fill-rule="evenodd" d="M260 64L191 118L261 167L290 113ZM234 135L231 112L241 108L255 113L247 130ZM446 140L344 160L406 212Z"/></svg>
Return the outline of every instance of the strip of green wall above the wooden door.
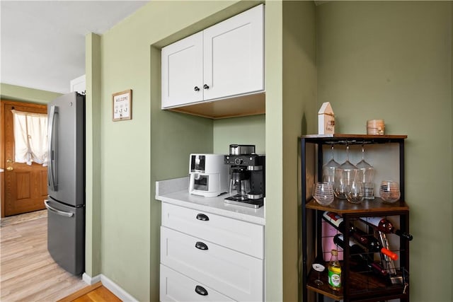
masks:
<svg viewBox="0 0 453 302"><path fill-rule="evenodd" d="M29 103L47 104L62 94L0 83L0 95L1 98L5 100L20 100Z"/></svg>

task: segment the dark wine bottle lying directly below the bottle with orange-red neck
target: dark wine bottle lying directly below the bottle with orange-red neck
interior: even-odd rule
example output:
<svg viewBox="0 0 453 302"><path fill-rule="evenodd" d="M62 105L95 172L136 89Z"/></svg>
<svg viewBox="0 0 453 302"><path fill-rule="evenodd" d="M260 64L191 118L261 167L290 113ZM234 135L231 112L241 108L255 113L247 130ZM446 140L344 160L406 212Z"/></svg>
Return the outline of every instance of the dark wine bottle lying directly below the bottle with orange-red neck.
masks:
<svg viewBox="0 0 453 302"><path fill-rule="evenodd" d="M333 243L338 245L340 248L343 248L343 250L345 249L345 240L342 234L334 236ZM374 262L372 257L370 257L360 245L352 240L349 240L349 253L352 265L358 267L359 269L367 267L368 269L372 269L373 272L379 274L379 276L386 277L388 275L387 271L379 265L379 263Z"/></svg>

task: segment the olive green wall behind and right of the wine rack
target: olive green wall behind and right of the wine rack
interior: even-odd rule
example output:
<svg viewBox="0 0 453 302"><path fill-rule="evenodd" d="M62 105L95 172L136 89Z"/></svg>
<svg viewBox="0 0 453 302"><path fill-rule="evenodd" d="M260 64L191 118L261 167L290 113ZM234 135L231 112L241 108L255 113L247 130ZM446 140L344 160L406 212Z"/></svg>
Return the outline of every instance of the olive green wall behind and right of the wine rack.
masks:
<svg viewBox="0 0 453 302"><path fill-rule="evenodd" d="M411 301L452 301L452 1L331 1L316 26L318 103L336 132L384 119L408 135Z"/></svg>

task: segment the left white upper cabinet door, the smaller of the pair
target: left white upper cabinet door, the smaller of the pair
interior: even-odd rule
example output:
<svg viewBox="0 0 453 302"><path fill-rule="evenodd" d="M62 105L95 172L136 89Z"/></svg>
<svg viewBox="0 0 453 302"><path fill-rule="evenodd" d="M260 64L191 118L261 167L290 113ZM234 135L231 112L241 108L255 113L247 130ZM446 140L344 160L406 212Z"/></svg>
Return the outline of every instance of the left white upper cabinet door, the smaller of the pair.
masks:
<svg viewBox="0 0 453 302"><path fill-rule="evenodd" d="M162 48L161 108L203 99L202 41L202 33L196 33Z"/></svg>

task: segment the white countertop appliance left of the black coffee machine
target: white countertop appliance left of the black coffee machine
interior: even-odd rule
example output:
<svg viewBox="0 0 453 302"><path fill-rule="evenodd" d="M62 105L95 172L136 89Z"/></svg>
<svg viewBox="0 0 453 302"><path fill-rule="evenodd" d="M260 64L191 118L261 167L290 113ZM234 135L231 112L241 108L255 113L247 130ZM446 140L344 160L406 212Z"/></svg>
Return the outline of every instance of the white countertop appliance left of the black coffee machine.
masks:
<svg viewBox="0 0 453 302"><path fill-rule="evenodd" d="M189 193L216 197L228 191L229 171L223 154L190 154Z"/></svg>

